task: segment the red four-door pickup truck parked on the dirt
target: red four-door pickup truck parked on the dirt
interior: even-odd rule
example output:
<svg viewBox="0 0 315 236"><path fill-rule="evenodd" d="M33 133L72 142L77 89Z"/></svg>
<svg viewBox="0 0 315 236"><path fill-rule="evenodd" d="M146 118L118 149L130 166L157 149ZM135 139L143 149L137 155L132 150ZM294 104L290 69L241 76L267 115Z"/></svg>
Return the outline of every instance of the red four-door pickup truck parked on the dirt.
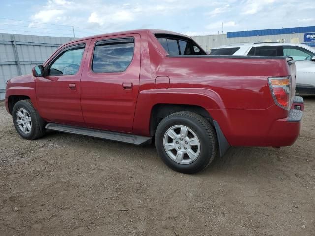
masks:
<svg viewBox="0 0 315 236"><path fill-rule="evenodd" d="M195 173L230 146L289 146L303 99L284 57L210 56L162 30L103 34L61 46L7 83L6 109L25 139L45 131L133 144L153 139L172 169Z"/></svg>

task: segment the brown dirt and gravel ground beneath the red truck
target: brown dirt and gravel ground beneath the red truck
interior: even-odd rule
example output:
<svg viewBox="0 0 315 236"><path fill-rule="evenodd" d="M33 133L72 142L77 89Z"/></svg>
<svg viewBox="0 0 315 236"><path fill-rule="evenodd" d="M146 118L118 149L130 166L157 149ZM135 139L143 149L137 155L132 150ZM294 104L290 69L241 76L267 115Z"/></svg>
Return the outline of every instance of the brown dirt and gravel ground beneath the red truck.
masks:
<svg viewBox="0 0 315 236"><path fill-rule="evenodd" d="M315 97L297 142L230 148L177 173L154 145L50 132L27 141L0 103L0 236L314 236Z"/></svg>

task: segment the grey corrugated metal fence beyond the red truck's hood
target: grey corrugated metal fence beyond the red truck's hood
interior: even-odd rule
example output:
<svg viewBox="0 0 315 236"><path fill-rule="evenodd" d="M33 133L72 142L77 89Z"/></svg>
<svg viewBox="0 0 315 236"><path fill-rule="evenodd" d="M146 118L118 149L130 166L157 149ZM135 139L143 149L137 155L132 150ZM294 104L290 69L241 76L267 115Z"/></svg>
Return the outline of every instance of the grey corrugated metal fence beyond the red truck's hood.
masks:
<svg viewBox="0 0 315 236"><path fill-rule="evenodd" d="M7 80L30 74L33 66L42 64L61 44L73 39L0 34L0 100L5 98Z"/></svg>

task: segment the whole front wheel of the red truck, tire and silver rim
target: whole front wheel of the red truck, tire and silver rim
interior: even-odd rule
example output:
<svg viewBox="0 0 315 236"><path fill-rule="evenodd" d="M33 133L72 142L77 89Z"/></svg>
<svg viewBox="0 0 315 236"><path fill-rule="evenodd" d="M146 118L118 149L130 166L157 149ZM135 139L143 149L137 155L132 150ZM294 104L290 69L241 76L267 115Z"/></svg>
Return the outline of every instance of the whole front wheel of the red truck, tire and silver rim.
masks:
<svg viewBox="0 0 315 236"><path fill-rule="evenodd" d="M16 131L25 139L37 139L45 134L44 120L33 107L31 100L18 101L12 111Z"/></svg>

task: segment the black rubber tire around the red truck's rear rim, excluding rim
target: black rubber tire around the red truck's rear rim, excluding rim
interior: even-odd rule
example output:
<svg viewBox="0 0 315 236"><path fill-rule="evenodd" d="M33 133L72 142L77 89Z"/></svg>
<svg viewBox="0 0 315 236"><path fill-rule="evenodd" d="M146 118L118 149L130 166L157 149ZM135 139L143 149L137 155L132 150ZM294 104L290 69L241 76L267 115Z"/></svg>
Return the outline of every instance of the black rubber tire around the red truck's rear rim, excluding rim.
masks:
<svg viewBox="0 0 315 236"><path fill-rule="evenodd" d="M164 135L170 127L184 125L191 129L200 142L198 157L189 164L180 164L174 161L164 148ZM175 171L192 174L199 172L215 159L218 150L217 136L211 124L202 116L193 112L177 112L164 118L159 124L155 134L155 144L158 155L163 162Z"/></svg>

